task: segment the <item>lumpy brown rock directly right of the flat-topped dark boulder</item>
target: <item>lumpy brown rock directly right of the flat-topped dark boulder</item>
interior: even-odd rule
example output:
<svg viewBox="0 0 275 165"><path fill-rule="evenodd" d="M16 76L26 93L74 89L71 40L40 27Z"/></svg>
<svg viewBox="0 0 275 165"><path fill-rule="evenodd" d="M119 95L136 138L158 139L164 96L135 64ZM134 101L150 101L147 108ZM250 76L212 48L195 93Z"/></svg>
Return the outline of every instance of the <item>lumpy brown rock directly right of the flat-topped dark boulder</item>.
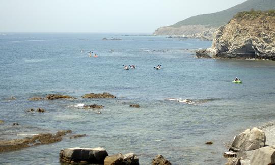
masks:
<svg viewBox="0 0 275 165"><path fill-rule="evenodd" d="M134 153L122 155L121 153L107 156L104 165L138 165L139 158Z"/></svg>

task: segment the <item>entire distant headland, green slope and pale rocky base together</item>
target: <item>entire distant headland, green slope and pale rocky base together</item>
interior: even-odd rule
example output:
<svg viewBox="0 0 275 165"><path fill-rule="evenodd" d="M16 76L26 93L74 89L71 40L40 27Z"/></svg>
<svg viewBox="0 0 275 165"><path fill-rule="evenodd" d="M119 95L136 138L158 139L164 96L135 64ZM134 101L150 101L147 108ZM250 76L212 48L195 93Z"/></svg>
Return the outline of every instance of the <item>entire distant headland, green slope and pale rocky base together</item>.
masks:
<svg viewBox="0 0 275 165"><path fill-rule="evenodd" d="M174 25L158 28L154 35L185 36L211 40L213 32L219 26L227 24L237 13L251 9L255 11L275 9L275 0L248 0L227 10L193 16Z"/></svg>

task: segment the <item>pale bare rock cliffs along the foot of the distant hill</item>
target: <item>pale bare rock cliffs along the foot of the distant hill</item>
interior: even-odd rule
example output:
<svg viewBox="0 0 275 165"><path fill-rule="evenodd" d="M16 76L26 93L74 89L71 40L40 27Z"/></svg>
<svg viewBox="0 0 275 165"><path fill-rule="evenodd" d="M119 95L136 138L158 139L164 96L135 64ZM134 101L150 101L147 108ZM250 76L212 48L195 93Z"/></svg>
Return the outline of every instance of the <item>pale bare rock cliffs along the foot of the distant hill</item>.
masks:
<svg viewBox="0 0 275 165"><path fill-rule="evenodd" d="M204 25L184 25L180 27L167 26L155 30L154 35L181 36L185 38L212 40L212 35L216 31L216 29L216 27L209 27Z"/></svg>

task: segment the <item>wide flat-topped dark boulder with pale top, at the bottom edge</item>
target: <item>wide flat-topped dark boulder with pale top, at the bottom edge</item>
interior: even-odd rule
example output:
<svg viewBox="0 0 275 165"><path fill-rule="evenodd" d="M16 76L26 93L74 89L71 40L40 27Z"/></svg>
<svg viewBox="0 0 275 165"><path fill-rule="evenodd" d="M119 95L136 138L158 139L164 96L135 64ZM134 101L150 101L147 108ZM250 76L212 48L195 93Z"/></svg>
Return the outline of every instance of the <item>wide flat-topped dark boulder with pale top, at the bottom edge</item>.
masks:
<svg viewBox="0 0 275 165"><path fill-rule="evenodd" d="M66 148L59 153L60 160L67 163L104 164L108 156L104 148Z"/></svg>

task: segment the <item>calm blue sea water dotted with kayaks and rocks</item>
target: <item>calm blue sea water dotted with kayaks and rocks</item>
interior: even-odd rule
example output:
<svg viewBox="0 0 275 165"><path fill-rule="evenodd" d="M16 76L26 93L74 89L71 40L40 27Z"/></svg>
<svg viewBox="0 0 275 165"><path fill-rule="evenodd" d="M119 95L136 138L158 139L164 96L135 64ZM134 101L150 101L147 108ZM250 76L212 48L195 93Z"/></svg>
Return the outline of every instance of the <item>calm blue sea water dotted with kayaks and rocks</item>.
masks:
<svg viewBox="0 0 275 165"><path fill-rule="evenodd" d="M150 164L157 154L173 164L224 164L225 144L234 135L274 120L275 62L191 55L210 46L210 41L143 34L0 35L0 119L5 121L0 140L68 129L88 135L1 153L0 163L60 164L61 149L103 147L109 155L134 152L140 164ZM137 69L123 69L131 64ZM154 69L157 65L163 69ZM234 84L235 77L243 83ZM81 98L91 92L117 98ZM47 94L77 99L28 101ZM97 114L78 104L104 108ZM29 108L46 112L26 112ZM12 126L15 122L19 125ZM204 145L207 141L214 144Z"/></svg>

